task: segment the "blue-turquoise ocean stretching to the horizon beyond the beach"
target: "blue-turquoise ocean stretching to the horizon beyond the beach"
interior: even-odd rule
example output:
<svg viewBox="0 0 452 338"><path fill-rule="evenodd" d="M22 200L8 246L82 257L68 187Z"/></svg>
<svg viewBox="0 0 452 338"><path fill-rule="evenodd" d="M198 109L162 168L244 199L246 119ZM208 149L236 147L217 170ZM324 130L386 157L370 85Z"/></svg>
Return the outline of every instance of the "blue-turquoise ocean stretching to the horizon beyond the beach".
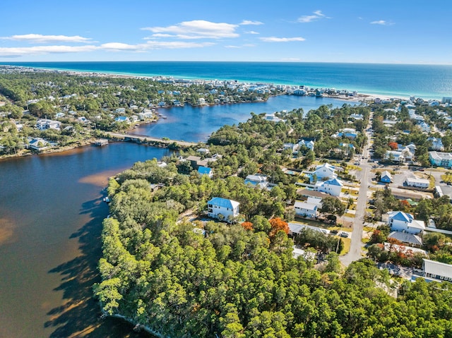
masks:
<svg viewBox="0 0 452 338"><path fill-rule="evenodd" d="M240 80L357 90L390 97L441 99L452 96L452 65L332 64L281 62L4 62L37 68L114 73L132 76L173 76Z"/></svg>

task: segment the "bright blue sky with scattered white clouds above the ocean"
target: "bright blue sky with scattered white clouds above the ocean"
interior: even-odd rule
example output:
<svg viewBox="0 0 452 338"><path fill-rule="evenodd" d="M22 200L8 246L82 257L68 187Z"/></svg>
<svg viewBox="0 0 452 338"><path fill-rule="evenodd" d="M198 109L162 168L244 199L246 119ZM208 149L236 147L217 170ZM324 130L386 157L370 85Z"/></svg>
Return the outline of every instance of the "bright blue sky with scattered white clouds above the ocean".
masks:
<svg viewBox="0 0 452 338"><path fill-rule="evenodd" d="M5 1L0 61L452 64L448 0Z"/></svg>

